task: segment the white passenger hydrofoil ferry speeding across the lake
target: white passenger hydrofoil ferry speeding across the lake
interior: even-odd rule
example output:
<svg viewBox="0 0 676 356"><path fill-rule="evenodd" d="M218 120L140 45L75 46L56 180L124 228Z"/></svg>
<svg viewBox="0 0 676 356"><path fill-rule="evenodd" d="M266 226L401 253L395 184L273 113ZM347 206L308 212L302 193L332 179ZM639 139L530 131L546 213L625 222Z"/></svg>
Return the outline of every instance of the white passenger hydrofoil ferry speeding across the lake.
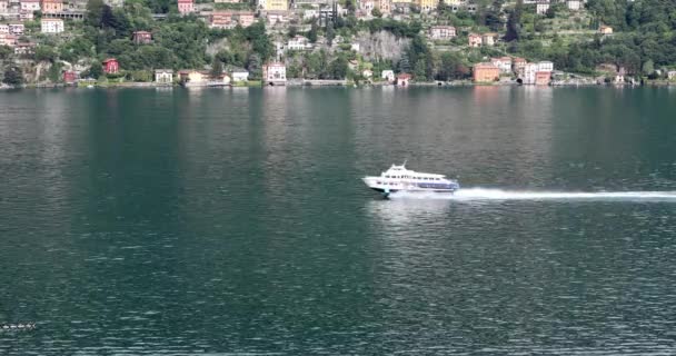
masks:
<svg viewBox="0 0 676 356"><path fill-rule="evenodd" d="M424 174L406 169L406 162L401 166L392 165L380 176L364 177L364 182L371 189L381 192L385 197L390 192L454 192L460 188L456 180L448 179L444 175Z"/></svg>

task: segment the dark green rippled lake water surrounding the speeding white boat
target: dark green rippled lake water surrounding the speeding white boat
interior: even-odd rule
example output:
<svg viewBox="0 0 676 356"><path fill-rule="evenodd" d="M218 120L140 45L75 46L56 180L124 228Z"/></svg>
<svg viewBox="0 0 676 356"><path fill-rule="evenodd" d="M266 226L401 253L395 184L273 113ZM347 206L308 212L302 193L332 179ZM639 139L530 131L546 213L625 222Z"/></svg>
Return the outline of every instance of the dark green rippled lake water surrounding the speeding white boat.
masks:
<svg viewBox="0 0 676 356"><path fill-rule="evenodd" d="M673 191L676 90L7 91L0 354L674 354Z"/></svg>

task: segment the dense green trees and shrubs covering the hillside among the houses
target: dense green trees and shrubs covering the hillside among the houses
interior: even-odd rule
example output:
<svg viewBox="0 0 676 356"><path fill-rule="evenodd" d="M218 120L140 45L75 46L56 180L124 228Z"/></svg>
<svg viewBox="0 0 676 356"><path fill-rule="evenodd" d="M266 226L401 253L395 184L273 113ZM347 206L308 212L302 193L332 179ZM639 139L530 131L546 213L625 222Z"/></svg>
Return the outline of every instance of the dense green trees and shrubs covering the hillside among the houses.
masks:
<svg viewBox="0 0 676 356"><path fill-rule="evenodd" d="M348 9L344 17L322 23L306 22L306 32L299 32L298 22L286 29L284 36L288 38L304 34L320 44L314 51L285 55L289 78L361 80L365 69L376 76L380 70L395 69L410 72L418 80L464 79L469 76L471 63L506 53L551 60L557 69L579 73L594 73L599 65L612 63L628 73L656 78L658 69L676 65L676 0L588 0L586 11L577 13L568 11L565 3L554 3L545 16L535 14L534 6L521 1L505 7L504 0L479 0L475 13L453 12L440 3L435 16L415 14L408 21L382 18L377 10L371 20L358 20L355 1L342 4ZM267 31L262 21L246 29L210 29L195 16L179 16L175 7L171 0L127 0L121 8L89 0L84 21L69 21L68 36L36 34L40 46L29 59L52 63L49 70L41 71L40 80L57 81L61 61L89 67L83 76L99 78L101 60L115 57L125 70L121 76L146 81L151 80L151 70L157 68L217 72L220 68L242 67L256 79L262 63L277 56L272 38L279 33ZM252 3L237 7L250 9ZM167 18L155 20L152 13L166 13ZM424 30L435 23L463 30L458 38L433 46ZM615 33L599 34L600 24L612 26ZM38 20L26 26L39 31ZM139 30L152 32L152 42L135 43L132 33ZM350 41L358 33L380 31L407 39L409 46L399 60L366 62L350 50ZM501 41L496 47L468 49L468 31L495 31ZM335 43L339 38L342 41ZM17 58L11 48L0 46L6 83L20 82L21 73L32 70L17 66Z"/></svg>

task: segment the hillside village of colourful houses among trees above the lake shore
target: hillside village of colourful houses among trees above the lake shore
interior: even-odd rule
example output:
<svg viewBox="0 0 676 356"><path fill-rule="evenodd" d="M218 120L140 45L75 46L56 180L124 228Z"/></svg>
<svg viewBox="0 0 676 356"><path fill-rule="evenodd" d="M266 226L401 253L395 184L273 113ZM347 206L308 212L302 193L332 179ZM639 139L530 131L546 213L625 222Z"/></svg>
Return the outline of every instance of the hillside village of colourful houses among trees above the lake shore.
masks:
<svg viewBox="0 0 676 356"><path fill-rule="evenodd" d="M676 80L673 56L632 56L637 50L616 38L594 1L610 0L0 0L2 81L190 87ZM634 42L637 23L627 31ZM672 43L673 37L660 40ZM643 42L636 46L643 51Z"/></svg>

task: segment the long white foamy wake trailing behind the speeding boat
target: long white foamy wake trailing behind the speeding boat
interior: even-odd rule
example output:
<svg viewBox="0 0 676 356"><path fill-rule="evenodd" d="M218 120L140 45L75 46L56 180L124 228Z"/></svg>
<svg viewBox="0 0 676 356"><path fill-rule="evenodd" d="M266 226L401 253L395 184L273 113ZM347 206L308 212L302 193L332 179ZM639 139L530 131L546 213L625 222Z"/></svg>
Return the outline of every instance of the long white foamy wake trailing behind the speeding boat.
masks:
<svg viewBox="0 0 676 356"><path fill-rule="evenodd" d="M537 191L503 190L489 188L460 188L455 194L395 192L398 199L447 199L447 200L647 200L674 201L676 191Z"/></svg>

